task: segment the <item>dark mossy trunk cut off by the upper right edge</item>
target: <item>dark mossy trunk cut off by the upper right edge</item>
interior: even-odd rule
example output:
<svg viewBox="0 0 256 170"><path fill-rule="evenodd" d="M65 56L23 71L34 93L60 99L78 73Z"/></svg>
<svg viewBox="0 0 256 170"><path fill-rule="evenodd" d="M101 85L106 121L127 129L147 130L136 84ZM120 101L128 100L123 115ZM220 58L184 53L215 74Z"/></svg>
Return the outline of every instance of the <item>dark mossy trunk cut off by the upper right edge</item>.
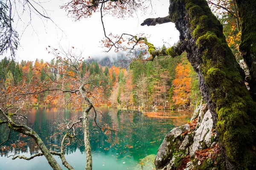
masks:
<svg viewBox="0 0 256 170"><path fill-rule="evenodd" d="M236 0L241 20L241 45L244 61L249 67L250 94L256 101L256 0Z"/></svg>

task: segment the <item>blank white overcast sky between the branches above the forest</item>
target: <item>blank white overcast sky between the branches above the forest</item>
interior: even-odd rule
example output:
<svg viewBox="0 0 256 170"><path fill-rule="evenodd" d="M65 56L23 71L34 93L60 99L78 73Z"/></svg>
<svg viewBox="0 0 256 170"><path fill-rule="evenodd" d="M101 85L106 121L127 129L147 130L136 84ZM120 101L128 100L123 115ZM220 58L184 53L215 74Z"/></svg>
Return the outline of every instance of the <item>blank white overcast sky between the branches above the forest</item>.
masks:
<svg viewBox="0 0 256 170"><path fill-rule="evenodd" d="M47 10L47 13L57 26L50 20L43 21L35 14L32 15L32 26L29 26L24 30L29 16L23 14L19 20L16 30L21 35L20 48L17 50L18 61L23 60L35 60L44 59L50 61L54 57L48 54L46 47L48 45L58 48L58 44L64 48L70 48L74 46L79 50L83 50L84 57L99 57L112 55L116 56L116 53L109 52L106 54L103 48L101 48L100 41L104 38L104 32L100 20L100 14L96 13L91 18L81 19L80 21L74 21L73 18L67 17L67 12L64 9L60 9L60 6L69 0L50 0L48 3L44 3L43 7ZM165 23L157 26L140 26L146 18L149 17L165 17L169 11L169 0L152 0L154 11L152 14L140 15L134 18L118 19L110 15L105 15L103 21L105 24L106 34L139 34L145 33L150 35L148 42L159 47L163 45L163 42L169 42L173 45L179 39L179 32L176 30L173 23ZM17 20L15 21L17 22ZM61 31L63 30L63 31ZM166 45L167 47L169 45ZM6 55L0 56L3 59Z"/></svg>

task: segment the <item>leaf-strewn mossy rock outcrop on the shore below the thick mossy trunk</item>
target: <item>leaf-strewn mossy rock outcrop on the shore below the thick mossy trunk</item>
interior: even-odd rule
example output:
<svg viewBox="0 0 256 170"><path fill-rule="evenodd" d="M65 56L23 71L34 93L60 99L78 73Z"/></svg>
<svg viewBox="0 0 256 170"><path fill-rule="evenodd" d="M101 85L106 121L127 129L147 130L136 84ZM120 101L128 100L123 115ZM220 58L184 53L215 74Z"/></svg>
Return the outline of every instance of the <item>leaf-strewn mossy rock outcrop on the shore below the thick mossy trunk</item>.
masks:
<svg viewBox="0 0 256 170"><path fill-rule="evenodd" d="M191 121L172 129L155 158L157 170L217 170L223 167L212 114L201 100Z"/></svg>

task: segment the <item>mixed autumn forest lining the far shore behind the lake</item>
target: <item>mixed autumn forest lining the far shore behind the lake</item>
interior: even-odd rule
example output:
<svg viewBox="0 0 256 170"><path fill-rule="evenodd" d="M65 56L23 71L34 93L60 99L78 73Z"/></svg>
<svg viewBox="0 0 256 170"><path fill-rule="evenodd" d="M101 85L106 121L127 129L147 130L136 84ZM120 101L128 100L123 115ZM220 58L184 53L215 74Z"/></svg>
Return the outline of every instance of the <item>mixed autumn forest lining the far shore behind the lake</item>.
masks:
<svg viewBox="0 0 256 170"><path fill-rule="evenodd" d="M82 77L89 77L94 80L94 85L102 89L102 102L98 103L99 105L182 110L193 108L201 99L196 73L185 54L177 58L159 57L153 62L142 60L143 54L131 62L128 68L115 65L104 67L99 65L97 60L84 60L79 63L79 71ZM104 61L101 62L104 64ZM61 81L63 75L58 72L64 68L65 63L58 59L52 59L51 62L36 59L35 62L18 63L4 58L0 65L3 70L0 79L5 82L6 88L15 88L16 85L22 84L32 89L42 83ZM72 86L72 82L67 84ZM49 88L57 86L52 84ZM69 99L67 94L57 95L46 91L32 96L26 107L64 107ZM73 107L72 103L69 107Z"/></svg>

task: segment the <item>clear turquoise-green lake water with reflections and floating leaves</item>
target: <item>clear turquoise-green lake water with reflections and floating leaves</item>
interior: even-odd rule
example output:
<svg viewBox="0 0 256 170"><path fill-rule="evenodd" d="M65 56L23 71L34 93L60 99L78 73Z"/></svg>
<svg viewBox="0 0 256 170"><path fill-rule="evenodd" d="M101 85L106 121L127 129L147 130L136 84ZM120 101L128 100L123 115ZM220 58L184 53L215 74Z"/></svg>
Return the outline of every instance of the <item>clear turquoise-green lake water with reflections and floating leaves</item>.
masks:
<svg viewBox="0 0 256 170"><path fill-rule="evenodd" d="M93 154L93 170L132 170L145 156L157 153L157 149L166 133L174 127L183 125L191 117L191 114L187 112L140 113L129 110L120 111L114 108L101 108L101 110L110 127L116 127L120 132L113 135L112 140L115 145L111 147L113 143L109 136L106 136L101 129L94 125L94 116L91 113L89 123L91 127L90 143ZM32 127L40 135L44 143L48 144L48 148L56 151L59 150L61 138L49 138L56 131L54 122L81 115L81 112L75 113L70 110L61 113L57 108L29 109L23 112L26 112L29 127ZM12 133L12 139L18 140L19 136L17 135L18 133ZM2 141L1 138L2 136L0 136L0 142ZM23 137L21 140L27 142L27 145L18 150L20 154L29 157L38 153L35 142ZM9 153L8 156L12 154ZM55 158L61 164L58 156L55 156ZM66 149L66 159L76 170L84 170L86 159L84 146L80 146L77 142L72 143ZM62 164L61 166L66 169ZM0 170L50 169L51 167L43 156L30 161L12 160L12 156L8 158L6 153L0 156Z"/></svg>

